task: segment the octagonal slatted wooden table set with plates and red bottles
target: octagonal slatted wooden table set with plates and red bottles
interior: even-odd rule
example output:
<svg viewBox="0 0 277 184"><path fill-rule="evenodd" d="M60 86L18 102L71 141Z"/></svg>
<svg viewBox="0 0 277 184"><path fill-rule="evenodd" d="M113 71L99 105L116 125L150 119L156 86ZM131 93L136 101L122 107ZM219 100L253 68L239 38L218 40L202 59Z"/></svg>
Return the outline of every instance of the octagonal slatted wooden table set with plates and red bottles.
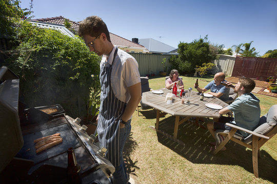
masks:
<svg viewBox="0 0 277 184"><path fill-rule="evenodd" d="M172 90L164 89L163 94L153 94L151 91L143 93L142 102L146 105L156 109L156 130L159 129L160 117L162 114L171 114L175 116L174 124L174 139L177 139L179 125L187 121L188 119L195 117L197 120L199 118L213 118L214 121L217 121L221 114L219 110L210 109L205 106L206 103L214 103L221 105L223 108L227 107L228 104L220 100L219 98L207 98L204 97L204 100L200 100L200 95L196 91L192 91L190 97L190 104L187 104L187 99L185 99L185 104L181 104L181 97L176 97L173 100L172 104L167 104L165 101L166 94L172 93ZM163 113L162 113L162 112ZM185 117L180 121L180 117Z"/></svg>

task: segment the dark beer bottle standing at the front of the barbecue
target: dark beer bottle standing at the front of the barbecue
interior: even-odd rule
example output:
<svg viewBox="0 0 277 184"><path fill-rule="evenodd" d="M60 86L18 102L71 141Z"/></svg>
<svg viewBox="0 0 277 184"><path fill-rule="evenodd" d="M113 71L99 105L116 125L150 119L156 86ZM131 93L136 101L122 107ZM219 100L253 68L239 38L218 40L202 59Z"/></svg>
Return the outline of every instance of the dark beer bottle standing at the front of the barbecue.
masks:
<svg viewBox="0 0 277 184"><path fill-rule="evenodd" d="M77 164L74 149L67 150L67 182L68 183L82 183L81 167Z"/></svg>

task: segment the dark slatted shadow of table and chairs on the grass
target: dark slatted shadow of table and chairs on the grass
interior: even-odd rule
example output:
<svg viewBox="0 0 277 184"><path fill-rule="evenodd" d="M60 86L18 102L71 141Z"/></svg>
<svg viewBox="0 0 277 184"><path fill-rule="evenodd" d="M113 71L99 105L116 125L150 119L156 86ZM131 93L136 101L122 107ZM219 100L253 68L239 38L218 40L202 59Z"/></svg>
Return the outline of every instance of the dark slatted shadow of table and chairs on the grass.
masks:
<svg viewBox="0 0 277 184"><path fill-rule="evenodd" d="M159 130L164 131L173 136L174 117L162 120L159 124ZM201 125L206 127L206 123ZM252 150L229 141L226 151L220 151L216 155L212 154L210 141L214 141L207 129L195 126L191 120L179 126L177 139L182 141L184 145L178 144L167 136L157 132L158 141L180 154L191 163L194 164L219 164L219 165L237 165L243 167L250 173L252 168ZM258 158L259 177L277 183L277 161L271 157L266 151L261 150L261 158Z"/></svg>

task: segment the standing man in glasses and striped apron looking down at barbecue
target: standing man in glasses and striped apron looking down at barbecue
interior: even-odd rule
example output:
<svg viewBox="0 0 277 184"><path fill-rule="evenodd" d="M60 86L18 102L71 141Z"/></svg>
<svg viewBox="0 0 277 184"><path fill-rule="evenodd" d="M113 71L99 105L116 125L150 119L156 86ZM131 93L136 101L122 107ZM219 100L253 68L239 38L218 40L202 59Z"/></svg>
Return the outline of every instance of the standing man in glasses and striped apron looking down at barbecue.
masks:
<svg viewBox="0 0 277 184"><path fill-rule="evenodd" d="M131 131L131 117L141 101L141 79L136 60L111 43L108 28L98 16L80 23L81 36L100 63L101 105L97 117L100 147L115 167L113 183L127 183L123 148Z"/></svg>

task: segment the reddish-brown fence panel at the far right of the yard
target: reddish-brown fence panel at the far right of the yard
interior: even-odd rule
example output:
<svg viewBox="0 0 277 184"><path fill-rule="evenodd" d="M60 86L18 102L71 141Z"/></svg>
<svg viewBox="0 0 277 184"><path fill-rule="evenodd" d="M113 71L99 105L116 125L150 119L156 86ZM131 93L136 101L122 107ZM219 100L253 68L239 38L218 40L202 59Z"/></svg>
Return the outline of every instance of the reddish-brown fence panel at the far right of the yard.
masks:
<svg viewBox="0 0 277 184"><path fill-rule="evenodd" d="M249 77L265 81L276 79L277 58L236 57L232 77Z"/></svg>

